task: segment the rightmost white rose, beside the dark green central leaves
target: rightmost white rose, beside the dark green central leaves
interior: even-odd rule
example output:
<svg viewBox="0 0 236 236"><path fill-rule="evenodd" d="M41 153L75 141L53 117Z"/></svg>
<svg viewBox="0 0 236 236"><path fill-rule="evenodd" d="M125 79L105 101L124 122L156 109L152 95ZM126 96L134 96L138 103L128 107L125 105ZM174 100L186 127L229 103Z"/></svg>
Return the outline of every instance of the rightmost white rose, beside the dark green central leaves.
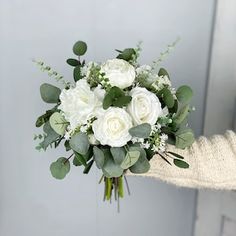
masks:
<svg viewBox="0 0 236 236"><path fill-rule="evenodd" d="M127 107L135 125L149 123L154 125L162 114L158 97L145 88L134 88L130 91L132 100Z"/></svg>

